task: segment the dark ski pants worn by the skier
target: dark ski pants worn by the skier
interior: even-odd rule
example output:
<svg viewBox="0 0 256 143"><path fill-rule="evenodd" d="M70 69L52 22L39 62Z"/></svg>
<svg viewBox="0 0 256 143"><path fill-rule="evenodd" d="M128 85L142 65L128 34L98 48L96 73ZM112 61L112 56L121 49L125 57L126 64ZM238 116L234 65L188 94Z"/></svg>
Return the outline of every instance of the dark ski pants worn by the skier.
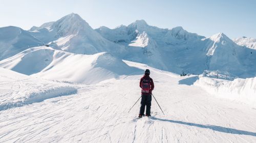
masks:
<svg viewBox="0 0 256 143"><path fill-rule="evenodd" d="M144 115L145 105L146 105L146 115L151 115L150 114L151 100L152 100L152 95L141 95L140 115Z"/></svg>

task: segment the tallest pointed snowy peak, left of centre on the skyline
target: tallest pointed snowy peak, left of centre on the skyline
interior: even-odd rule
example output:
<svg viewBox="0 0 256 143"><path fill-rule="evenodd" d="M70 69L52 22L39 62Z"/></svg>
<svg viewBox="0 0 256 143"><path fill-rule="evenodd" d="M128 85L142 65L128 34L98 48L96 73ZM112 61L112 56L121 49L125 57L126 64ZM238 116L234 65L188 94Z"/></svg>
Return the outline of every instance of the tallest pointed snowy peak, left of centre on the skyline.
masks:
<svg viewBox="0 0 256 143"><path fill-rule="evenodd" d="M123 47L104 39L78 14L69 14L55 22L32 27L30 34L45 43L56 43L65 51L79 54L94 54L112 51L120 53Z"/></svg>

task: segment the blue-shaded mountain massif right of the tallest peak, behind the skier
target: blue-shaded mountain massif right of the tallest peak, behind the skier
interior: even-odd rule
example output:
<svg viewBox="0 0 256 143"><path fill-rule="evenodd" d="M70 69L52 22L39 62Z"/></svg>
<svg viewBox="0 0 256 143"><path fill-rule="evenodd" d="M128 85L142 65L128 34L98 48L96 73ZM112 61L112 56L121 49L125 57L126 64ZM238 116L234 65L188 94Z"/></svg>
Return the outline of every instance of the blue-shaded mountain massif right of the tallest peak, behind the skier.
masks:
<svg viewBox="0 0 256 143"><path fill-rule="evenodd" d="M168 30L150 26L144 20L113 30L100 27L96 31L110 41L125 45L129 50L124 59L159 69L194 74L221 70L240 77L253 77L256 73L253 64L256 51L237 45L223 33L205 38L180 26Z"/></svg>

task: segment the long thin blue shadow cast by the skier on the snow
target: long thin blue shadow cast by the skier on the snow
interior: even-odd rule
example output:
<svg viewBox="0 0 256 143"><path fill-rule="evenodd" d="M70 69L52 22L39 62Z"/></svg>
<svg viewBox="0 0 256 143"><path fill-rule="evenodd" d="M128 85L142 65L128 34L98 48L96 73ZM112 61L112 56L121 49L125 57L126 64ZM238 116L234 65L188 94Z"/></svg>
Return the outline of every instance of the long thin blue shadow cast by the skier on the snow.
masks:
<svg viewBox="0 0 256 143"><path fill-rule="evenodd" d="M156 117L151 117L151 119L152 120L164 121L164 122L170 122L170 123L183 124L183 125L187 125L187 126L195 126L195 127L199 127L199 128L207 128L207 129L212 129L214 131L224 132L224 133L243 134L243 135L256 136L256 132L237 130L237 129L220 127L220 126L215 126L215 125L201 125L201 124L188 123L188 122L183 122L183 121L160 119L160 118L156 118Z"/></svg>

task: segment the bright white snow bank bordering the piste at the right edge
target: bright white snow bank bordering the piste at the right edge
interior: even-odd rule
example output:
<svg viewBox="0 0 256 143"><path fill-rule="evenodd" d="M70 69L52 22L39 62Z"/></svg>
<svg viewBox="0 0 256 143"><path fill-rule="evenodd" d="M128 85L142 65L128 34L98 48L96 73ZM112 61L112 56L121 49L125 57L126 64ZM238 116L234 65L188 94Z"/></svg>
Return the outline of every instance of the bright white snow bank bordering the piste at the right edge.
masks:
<svg viewBox="0 0 256 143"><path fill-rule="evenodd" d="M200 77L194 85L198 85L210 94L222 98L256 105L256 77L246 79L237 78L233 81Z"/></svg>

